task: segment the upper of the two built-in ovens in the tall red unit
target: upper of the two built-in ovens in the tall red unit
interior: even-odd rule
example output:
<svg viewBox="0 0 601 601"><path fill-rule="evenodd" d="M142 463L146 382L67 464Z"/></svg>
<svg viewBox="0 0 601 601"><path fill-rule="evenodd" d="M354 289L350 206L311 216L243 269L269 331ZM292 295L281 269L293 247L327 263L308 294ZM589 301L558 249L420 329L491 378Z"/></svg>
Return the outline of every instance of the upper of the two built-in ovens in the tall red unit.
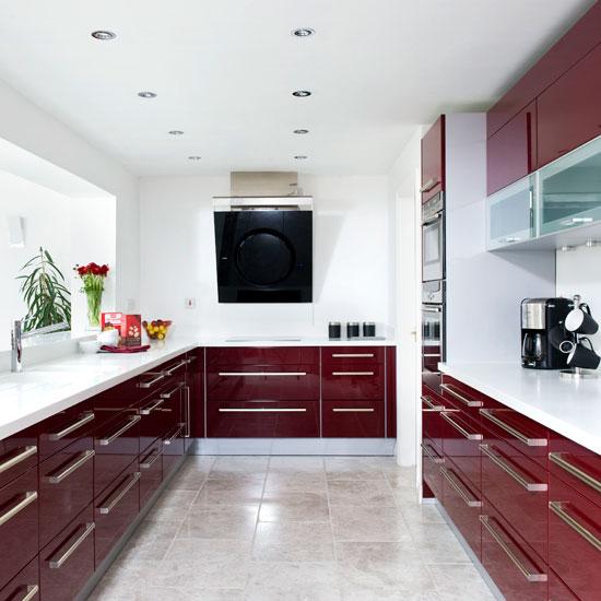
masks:
<svg viewBox="0 0 601 601"><path fill-rule="evenodd" d="M445 197L422 205L422 282L445 279Z"/></svg>

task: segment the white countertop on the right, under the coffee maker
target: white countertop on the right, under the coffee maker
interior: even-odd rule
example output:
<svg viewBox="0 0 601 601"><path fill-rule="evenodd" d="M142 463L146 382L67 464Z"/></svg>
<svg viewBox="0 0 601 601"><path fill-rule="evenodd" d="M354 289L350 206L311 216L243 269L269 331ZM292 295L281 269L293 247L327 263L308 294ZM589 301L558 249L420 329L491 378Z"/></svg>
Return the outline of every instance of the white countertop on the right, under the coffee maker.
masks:
<svg viewBox="0 0 601 601"><path fill-rule="evenodd" d="M601 377L564 380L558 372L525 369L519 363L440 363L439 368L601 455Z"/></svg>

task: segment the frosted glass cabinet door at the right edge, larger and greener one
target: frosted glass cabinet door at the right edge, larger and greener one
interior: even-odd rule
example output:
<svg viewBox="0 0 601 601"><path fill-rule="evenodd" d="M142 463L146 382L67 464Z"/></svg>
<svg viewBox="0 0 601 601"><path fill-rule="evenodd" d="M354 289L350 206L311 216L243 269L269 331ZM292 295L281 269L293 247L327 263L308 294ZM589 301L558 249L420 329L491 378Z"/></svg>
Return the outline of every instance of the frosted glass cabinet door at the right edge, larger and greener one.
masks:
<svg viewBox="0 0 601 601"><path fill-rule="evenodd" d="M601 220L601 137L539 172L541 235Z"/></svg>

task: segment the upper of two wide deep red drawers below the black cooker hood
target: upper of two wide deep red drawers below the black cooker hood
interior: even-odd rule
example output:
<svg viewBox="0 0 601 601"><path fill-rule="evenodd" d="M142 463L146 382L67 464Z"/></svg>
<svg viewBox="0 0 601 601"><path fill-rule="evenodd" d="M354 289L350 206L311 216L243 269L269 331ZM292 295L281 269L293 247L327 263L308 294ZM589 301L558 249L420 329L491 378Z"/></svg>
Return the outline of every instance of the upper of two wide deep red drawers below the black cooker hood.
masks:
<svg viewBox="0 0 601 601"><path fill-rule="evenodd" d="M209 401L317 401L319 366L222 365L207 370Z"/></svg>

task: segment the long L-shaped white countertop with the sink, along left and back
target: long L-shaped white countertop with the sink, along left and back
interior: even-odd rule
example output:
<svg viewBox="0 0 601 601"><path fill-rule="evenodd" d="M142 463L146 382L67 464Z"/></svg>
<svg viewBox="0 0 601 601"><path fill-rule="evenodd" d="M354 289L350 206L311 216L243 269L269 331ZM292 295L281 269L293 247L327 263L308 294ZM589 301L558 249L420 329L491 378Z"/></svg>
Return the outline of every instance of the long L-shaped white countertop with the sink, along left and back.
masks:
<svg viewBox="0 0 601 601"><path fill-rule="evenodd" d="M174 337L145 353L73 354L27 367L20 374L0 373L0 439L50 417L143 372L198 346L388 346L392 340L228 340Z"/></svg>

